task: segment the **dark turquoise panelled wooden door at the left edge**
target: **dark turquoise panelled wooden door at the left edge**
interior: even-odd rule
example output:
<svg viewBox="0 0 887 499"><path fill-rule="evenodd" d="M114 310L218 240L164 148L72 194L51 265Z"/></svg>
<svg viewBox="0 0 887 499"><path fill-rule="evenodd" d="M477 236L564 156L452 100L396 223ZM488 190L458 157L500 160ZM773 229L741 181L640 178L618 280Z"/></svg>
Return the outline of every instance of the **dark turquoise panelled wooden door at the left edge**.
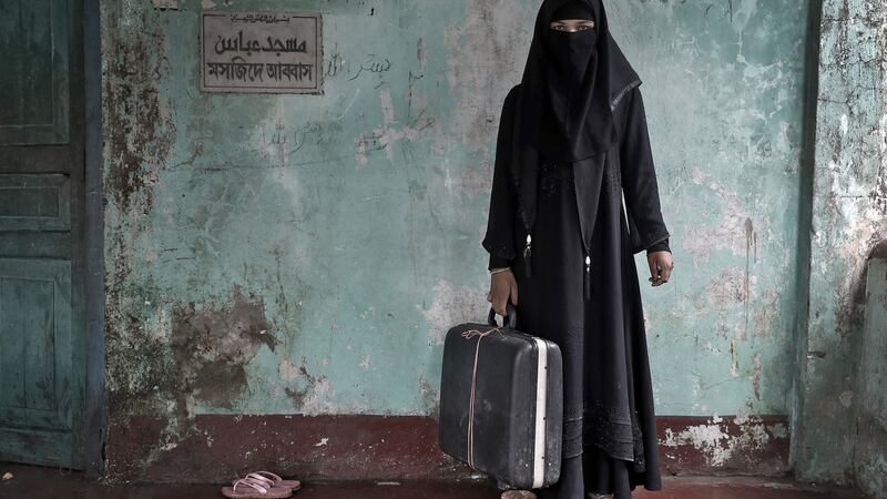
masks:
<svg viewBox="0 0 887 499"><path fill-rule="evenodd" d="M72 468L85 373L81 33L79 0L0 0L0 460Z"/></svg>

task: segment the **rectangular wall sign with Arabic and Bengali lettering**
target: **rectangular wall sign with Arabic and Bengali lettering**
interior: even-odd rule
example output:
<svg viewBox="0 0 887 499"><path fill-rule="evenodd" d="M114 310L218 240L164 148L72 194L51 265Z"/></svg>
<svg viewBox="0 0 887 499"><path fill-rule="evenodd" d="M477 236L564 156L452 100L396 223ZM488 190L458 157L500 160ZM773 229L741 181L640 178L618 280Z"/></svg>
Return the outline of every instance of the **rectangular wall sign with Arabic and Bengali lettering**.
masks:
<svg viewBox="0 0 887 499"><path fill-rule="evenodd" d="M201 90L324 93L320 14L203 12Z"/></svg>

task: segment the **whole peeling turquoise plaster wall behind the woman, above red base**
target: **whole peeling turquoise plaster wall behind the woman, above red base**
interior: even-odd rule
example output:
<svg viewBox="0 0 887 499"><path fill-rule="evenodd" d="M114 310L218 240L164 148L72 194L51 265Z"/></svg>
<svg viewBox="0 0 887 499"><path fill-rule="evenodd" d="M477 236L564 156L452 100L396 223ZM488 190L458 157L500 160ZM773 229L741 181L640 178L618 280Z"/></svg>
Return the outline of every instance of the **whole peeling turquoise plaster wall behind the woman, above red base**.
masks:
<svg viewBox="0 0 887 499"><path fill-rule="evenodd" d="M323 96L197 89L202 7L293 2L166 3L103 2L112 425L169 417L159 456L200 414L434 415L447 328L486 316L495 134L538 1L298 2L325 14ZM608 7L677 262L643 292L657 413L714 416L663 445L712 466L787 435L756 416L789 406L805 4Z"/></svg>

